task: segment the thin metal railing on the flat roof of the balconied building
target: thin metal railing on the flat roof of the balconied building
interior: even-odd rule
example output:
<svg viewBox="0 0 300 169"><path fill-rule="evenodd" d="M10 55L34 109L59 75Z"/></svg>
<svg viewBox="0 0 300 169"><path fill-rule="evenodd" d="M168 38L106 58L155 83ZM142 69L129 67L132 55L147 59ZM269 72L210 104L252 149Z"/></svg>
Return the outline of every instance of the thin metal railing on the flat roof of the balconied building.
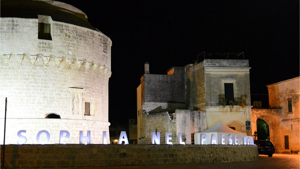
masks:
<svg viewBox="0 0 300 169"><path fill-rule="evenodd" d="M197 62L199 62L199 58L204 59L245 59L244 53L214 53L214 52L201 52L197 55Z"/></svg>

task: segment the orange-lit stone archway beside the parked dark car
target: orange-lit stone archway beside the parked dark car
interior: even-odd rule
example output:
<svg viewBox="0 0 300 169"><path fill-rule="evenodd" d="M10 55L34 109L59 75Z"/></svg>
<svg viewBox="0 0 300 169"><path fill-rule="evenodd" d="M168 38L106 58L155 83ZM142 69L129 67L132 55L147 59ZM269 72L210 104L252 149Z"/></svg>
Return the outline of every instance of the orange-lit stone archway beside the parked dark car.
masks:
<svg viewBox="0 0 300 169"><path fill-rule="evenodd" d="M284 140L282 139L281 118L279 116L281 109L251 109L252 135L256 130L257 118L263 119L269 126L270 141L274 144L276 152L284 150Z"/></svg>

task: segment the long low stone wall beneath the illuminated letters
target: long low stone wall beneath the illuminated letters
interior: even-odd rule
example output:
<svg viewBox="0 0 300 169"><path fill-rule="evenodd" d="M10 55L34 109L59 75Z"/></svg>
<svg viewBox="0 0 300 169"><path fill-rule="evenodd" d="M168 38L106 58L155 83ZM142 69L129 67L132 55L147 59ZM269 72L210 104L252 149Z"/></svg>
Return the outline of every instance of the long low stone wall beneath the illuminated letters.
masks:
<svg viewBox="0 0 300 169"><path fill-rule="evenodd" d="M2 166L1 145L1 166ZM251 161L254 145L8 144L8 168L99 167Z"/></svg>

